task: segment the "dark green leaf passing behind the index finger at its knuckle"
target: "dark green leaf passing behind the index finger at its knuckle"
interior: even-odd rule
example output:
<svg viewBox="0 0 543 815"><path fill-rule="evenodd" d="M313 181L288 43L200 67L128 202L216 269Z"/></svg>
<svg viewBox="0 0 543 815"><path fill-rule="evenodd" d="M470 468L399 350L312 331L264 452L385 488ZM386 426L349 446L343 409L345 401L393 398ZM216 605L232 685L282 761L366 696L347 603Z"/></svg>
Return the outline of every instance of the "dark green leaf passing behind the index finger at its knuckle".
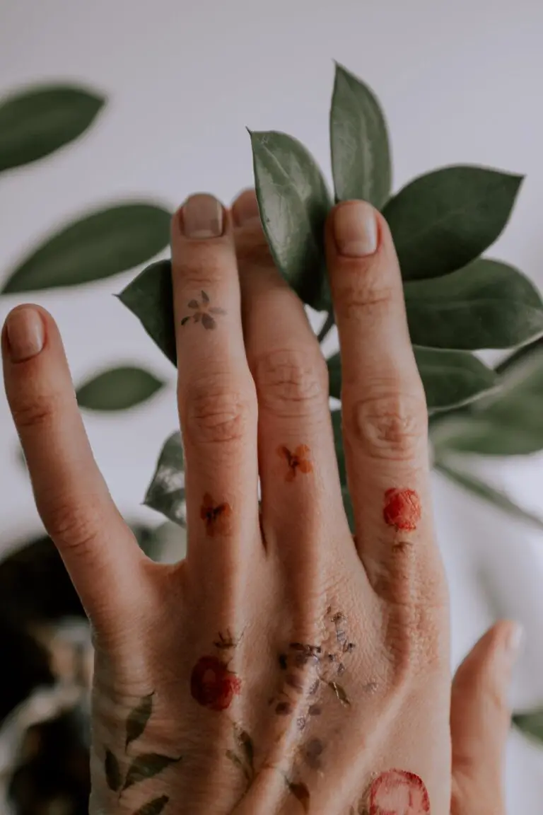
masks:
<svg viewBox="0 0 543 815"><path fill-rule="evenodd" d="M467 351L440 350L414 346L418 371L423 380L429 411L444 410L479 399L493 388L496 374L492 368ZM341 371L339 354L328 360L330 395L340 399Z"/></svg>

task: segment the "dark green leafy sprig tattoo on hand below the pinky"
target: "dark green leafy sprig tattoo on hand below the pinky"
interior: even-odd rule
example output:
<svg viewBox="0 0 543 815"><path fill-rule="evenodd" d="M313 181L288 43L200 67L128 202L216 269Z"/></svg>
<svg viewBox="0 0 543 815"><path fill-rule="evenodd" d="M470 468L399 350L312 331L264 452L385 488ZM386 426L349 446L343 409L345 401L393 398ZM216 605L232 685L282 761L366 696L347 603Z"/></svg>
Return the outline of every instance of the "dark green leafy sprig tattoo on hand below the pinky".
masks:
<svg viewBox="0 0 543 815"><path fill-rule="evenodd" d="M153 710L154 695L152 693L143 696L136 707L130 711L125 726L125 753L128 751L129 745L140 738L147 728ZM129 787L147 781L149 778L154 778L166 767L169 767L170 764L177 764L181 760L182 756L172 758L163 756L160 753L140 753L130 760L128 770L123 773L119 758L111 750L106 749L104 770L107 786L112 792L118 793L120 799L120 796ZM159 815L168 802L169 796L161 795L160 798L149 800L134 815Z"/></svg>

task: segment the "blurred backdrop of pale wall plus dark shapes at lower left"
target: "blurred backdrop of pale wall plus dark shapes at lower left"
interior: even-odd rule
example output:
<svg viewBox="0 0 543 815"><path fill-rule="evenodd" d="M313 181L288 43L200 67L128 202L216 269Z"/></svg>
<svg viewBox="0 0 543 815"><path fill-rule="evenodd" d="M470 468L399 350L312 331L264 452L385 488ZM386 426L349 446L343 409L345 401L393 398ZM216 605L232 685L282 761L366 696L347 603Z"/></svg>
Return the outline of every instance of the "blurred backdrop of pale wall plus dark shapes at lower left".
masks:
<svg viewBox="0 0 543 815"><path fill-rule="evenodd" d="M494 254L543 288L542 35L536 0L2 0L0 98L61 82L106 104L76 142L0 175L0 288L46 236L92 210L135 200L173 211L198 191L229 203L252 185L246 126L296 135L330 178L333 59L367 81L383 104L395 189L440 165L526 174ZM141 398L128 410L97 410L89 398L85 425L112 496L142 544L156 540L160 526L160 557L175 557L182 530L164 527L164 518L142 505L160 447L177 424L175 370L113 297L149 259L75 289L2 293L0 319L28 300L50 310L76 385L105 368L152 372L159 384L140 382ZM543 513L541 453L475 466L523 507ZM453 661L498 617L519 619L527 640L512 703L537 711L543 532L439 475L434 492L451 588ZM88 632L43 535L2 392L2 815L86 812L85 698L74 689L85 686L90 670ZM66 686L61 694L59 684ZM506 784L508 811L541 809L543 742L517 729Z"/></svg>

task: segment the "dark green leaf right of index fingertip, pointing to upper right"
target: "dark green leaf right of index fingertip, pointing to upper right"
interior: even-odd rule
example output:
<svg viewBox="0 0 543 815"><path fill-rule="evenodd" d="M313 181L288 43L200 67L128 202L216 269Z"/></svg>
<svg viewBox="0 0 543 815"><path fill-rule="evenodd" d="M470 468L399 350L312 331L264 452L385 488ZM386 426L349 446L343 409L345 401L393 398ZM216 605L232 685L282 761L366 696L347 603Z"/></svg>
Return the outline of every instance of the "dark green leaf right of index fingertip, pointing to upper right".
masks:
<svg viewBox="0 0 543 815"><path fill-rule="evenodd" d="M506 226L523 177L484 167L435 170L383 209L404 280L456 271L478 258Z"/></svg>

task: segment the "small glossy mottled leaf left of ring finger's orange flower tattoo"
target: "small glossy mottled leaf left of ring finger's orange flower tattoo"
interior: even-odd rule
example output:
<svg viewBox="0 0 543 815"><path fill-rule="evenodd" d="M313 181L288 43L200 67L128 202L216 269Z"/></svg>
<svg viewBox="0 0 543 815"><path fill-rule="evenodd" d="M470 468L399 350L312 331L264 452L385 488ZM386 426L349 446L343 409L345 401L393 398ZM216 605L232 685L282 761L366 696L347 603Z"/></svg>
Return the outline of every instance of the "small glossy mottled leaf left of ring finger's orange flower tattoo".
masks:
<svg viewBox="0 0 543 815"><path fill-rule="evenodd" d="M181 433L177 430L160 451L144 504L179 526L186 525L185 463Z"/></svg>

